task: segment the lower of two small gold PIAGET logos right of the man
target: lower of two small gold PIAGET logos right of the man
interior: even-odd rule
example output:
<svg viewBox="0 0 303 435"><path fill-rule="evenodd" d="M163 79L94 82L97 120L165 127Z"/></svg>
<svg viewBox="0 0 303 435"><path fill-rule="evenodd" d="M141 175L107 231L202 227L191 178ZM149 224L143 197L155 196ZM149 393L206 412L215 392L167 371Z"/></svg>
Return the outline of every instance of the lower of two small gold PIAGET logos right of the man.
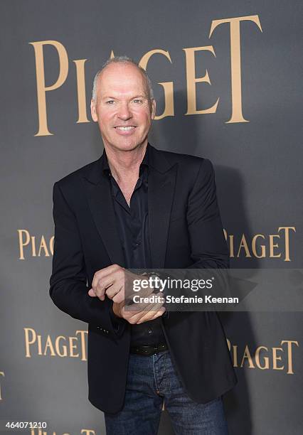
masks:
<svg viewBox="0 0 303 435"><path fill-rule="evenodd" d="M277 347L260 345L252 350L249 345L234 345L227 340L233 367L259 370L282 370L294 375L294 350L297 340L281 340Z"/></svg>

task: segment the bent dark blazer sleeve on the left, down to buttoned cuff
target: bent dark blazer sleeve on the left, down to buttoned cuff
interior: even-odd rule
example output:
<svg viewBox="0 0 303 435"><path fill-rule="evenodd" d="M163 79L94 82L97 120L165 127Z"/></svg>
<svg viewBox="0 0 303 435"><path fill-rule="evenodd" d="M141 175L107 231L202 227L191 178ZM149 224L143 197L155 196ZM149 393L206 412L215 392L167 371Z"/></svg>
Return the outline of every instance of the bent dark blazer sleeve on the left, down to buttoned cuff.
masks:
<svg viewBox="0 0 303 435"><path fill-rule="evenodd" d="M112 301L87 294L87 274L78 223L58 183L53 186L55 242L50 298L71 317L91 323L105 335L120 335L122 325L114 328L110 318Z"/></svg>

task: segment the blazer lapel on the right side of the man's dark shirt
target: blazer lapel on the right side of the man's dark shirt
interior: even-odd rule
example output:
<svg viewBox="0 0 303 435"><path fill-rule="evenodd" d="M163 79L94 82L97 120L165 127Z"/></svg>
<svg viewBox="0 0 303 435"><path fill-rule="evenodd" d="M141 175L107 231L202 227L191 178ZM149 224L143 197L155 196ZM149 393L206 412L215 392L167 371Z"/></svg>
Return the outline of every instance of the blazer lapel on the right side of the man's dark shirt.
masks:
<svg viewBox="0 0 303 435"><path fill-rule="evenodd" d="M171 166L164 153L149 145L149 240L154 269L164 269L171 206L174 199L177 165Z"/></svg>

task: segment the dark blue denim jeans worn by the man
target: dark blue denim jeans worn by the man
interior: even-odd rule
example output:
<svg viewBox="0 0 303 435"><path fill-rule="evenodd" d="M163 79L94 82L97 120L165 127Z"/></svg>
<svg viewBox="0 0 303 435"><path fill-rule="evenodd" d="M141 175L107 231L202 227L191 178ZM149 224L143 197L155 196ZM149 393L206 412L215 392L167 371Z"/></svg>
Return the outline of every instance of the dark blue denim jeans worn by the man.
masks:
<svg viewBox="0 0 303 435"><path fill-rule="evenodd" d="M124 407L117 414L105 413L107 435L156 435L163 402L177 435L228 435L222 398L193 402L169 350L149 357L129 355Z"/></svg>

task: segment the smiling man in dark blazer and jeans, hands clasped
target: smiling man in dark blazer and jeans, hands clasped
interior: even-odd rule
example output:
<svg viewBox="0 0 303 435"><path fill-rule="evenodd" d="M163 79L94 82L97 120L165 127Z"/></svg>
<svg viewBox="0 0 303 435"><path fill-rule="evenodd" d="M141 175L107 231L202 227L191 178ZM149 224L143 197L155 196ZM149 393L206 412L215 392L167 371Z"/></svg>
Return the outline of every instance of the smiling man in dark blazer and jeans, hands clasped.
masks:
<svg viewBox="0 0 303 435"><path fill-rule="evenodd" d="M54 185L50 297L88 323L89 400L107 434L156 434L163 402L176 434L227 434L221 395L236 380L217 314L124 306L125 269L228 267L211 162L151 146L155 110L129 58L97 73L105 150Z"/></svg>

